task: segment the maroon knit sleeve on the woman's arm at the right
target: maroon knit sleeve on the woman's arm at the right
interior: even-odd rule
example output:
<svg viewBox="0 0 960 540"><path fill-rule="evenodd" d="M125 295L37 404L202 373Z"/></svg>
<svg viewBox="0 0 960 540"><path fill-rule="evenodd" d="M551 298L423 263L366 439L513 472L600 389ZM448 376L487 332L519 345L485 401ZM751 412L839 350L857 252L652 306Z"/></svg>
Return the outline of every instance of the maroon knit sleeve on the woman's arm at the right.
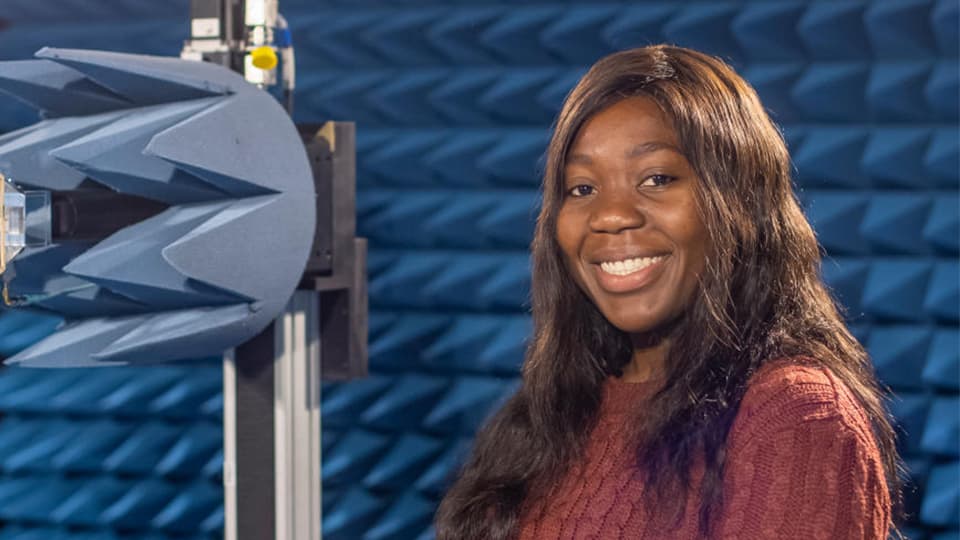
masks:
<svg viewBox="0 0 960 540"><path fill-rule="evenodd" d="M724 539L885 540L890 499L862 408L826 370L752 383L728 439Z"/></svg>

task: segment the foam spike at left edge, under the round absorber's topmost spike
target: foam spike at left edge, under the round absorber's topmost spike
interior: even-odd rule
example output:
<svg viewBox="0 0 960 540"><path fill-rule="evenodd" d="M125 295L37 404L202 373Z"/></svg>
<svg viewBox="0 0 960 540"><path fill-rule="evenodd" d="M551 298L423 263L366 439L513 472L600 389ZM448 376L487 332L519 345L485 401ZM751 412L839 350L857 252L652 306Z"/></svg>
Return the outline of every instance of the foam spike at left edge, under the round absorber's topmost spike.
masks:
<svg viewBox="0 0 960 540"><path fill-rule="evenodd" d="M49 60L0 62L0 92L43 111L48 118L86 116L132 106L76 70Z"/></svg>

